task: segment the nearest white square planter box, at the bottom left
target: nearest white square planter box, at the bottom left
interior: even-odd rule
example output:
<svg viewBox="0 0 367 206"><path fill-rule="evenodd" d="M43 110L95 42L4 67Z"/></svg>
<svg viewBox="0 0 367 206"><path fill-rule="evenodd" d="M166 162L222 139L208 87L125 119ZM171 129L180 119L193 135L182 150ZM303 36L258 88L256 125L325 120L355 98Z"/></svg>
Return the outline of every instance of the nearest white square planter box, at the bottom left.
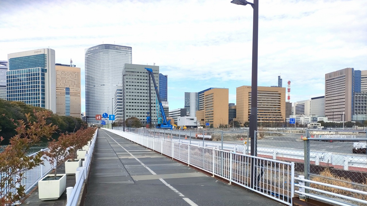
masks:
<svg viewBox="0 0 367 206"><path fill-rule="evenodd" d="M40 181L38 181L38 197L41 200L59 199L66 189L66 174L57 174L62 176L58 180L43 180L53 174L47 174Z"/></svg>

